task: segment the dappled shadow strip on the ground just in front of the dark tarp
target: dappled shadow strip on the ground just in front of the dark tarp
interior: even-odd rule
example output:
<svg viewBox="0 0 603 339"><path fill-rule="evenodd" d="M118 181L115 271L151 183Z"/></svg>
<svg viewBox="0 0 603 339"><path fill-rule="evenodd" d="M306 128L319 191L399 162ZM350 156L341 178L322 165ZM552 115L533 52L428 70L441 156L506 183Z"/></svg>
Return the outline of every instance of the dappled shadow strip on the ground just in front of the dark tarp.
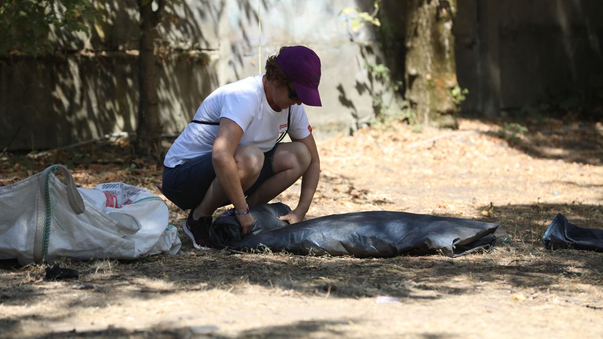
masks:
<svg viewBox="0 0 603 339"><path fill-rule="evenodd" d="M579 250L546 250L539 242L557 212L578 226L603 228L603 207L584 204L534 204L494 206L481 221L500 223L513 241L490 253L460 258L441 255L397 256L384 259L295 256L289 253L242 254L227 250L201 252L188 239L176 256L153 256L138 261L113 261L98 274L99 262L62 265L80 271L78 280L62 280L63 288L87 290L84 299L71 299L69 307L103 308L124 298L153 299L182 291L212 289L243 292L256 285L283 293L331 298L393 296L401 299L435 300L475 293L476 284L496 282L504 288L554 289L561 282L579 285L603 284L603 253ZM446 215L452 216L454 215ZM106 261L105 261L106 262ZM24 305L42 302L43 266L17 270L16 262L0 264L0 302ZM151 287L162 280L169 288ZM145 282L147 281L147 282ZM123 288L127 286L128 288ZM580 290L582 291L582 290ZM8 321L6 326L13 326ZM4 326L3 326L4 327Z"/></svg>

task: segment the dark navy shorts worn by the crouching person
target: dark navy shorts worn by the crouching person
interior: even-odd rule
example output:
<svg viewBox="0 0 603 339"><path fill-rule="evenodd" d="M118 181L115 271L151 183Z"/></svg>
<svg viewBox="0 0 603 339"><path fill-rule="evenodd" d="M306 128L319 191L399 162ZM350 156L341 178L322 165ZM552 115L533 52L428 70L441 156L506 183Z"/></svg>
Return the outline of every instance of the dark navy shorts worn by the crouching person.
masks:
<svg viewBox="0 0 603 339"><path fill-rule="evenodd" d="M268 178L274 176L272 166L274 152L277 145L272 150L264 153L264 166L260 171L259 177L247 191L245 197L255 191ZM174 168L163 168L163 195L180 209L194 209L201 203L209 185L215 179L216 173L213 170L212 153L198 156L188 162L182 163ZM226 201L223 206L230 204Z"/></svg>

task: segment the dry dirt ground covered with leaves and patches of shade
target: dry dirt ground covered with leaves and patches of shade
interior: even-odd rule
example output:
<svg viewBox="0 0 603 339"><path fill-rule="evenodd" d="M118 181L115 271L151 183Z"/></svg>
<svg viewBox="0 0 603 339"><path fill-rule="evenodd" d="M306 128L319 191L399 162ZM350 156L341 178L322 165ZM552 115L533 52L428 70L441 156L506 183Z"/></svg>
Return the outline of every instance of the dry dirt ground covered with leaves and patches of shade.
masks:
<svg viewBox="0 0 603 339"><path fill-rule="evenodd" d="M457 131L417 132L393 124L318 143L321 182L307 218L388 210L499 223L512 242L490 253L203 252L181 232L175 256L58 261L77 280L48 281L43 265L1 261L0 337L601 338L603 253L549 251L540 237L557 213L603 229L603 126L525 125L463 119ZM8 156L0 185L56 162L82 186L154 189L157 166L124 150L118 141ZM294 206L299 188L277 200ZM185 214L169 209L180 227Z"/></svg>

